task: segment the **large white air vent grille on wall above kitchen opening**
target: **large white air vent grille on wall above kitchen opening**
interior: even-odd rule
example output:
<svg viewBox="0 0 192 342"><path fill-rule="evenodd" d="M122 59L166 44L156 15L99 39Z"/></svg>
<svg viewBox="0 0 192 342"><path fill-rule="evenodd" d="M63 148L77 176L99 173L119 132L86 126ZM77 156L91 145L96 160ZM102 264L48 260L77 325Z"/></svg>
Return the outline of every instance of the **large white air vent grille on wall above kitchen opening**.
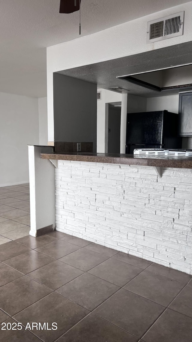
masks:
<svg viewBox="0 0 192 342"><path fill-rule="evenodd" d="M147 23L147 44L183 35L184 11Z"/></svg>

